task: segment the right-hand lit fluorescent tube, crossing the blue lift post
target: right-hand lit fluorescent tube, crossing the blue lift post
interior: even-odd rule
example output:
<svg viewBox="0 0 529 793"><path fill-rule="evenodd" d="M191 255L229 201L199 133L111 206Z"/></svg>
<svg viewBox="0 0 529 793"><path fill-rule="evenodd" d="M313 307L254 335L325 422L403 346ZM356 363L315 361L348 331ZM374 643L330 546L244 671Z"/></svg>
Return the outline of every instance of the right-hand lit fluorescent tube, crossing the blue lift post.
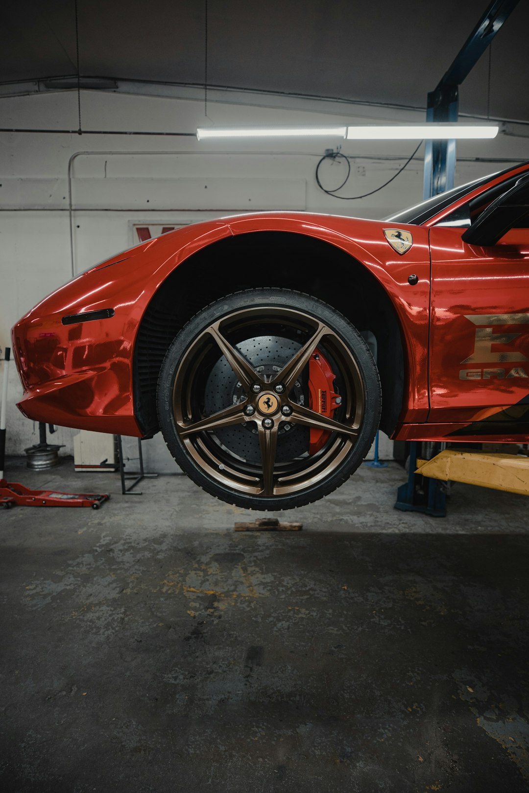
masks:
<svg viewBox="0 0 529 793"><path fill-rule="evenodd" d="M347 140L457 140L495 138L499 127L463 124L398 124L347 127Z"/></svg>

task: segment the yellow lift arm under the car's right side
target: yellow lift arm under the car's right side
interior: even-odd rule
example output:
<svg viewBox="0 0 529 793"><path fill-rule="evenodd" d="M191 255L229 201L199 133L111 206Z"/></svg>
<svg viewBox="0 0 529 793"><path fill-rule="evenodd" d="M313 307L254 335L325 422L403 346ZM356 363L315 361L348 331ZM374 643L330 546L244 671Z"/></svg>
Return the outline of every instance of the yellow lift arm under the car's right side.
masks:
<svg viewBox="0 0 529 793"><path fill-rule="evenodd" d="M518 454L445 449L431 460L417 460L416 473L529 496L529 458Z"/></svg>

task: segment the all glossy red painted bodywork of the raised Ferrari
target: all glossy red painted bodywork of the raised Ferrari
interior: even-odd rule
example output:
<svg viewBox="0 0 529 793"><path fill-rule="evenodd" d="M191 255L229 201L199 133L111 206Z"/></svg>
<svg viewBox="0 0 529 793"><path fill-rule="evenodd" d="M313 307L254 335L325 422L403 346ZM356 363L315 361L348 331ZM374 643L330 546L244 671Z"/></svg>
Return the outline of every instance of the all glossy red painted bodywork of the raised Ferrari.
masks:
<svg viewBox="0 0 529 793"><path fill-rule="evenodd" d="M458 203L462 201L436 220L443 220ZM506 315L509 320L512 314L529 314L529 235L506 238L485 251L463 243L461 228L435 226L434 221L397 225L413 237L404 255L385 239L383 229L394 228L392 222L308 213L208 221L141 243L57 289L15 325L13 353L25 389L19 407L35 420L140 437L133 352L151 297L201 248L231 235L269 230L322 239L374 274L397 312L404 344L404 404L394 437L458 440L450 437L458 427L511 409L529 393L529 379L519 373L507 377L503 363L489 366L489 361L474 358L463 363L474 354L477 329L485 331L478 346L481 357L487 350L485 336L499 334L504 336L500 343L497 335L489 338L489 355L509 353L509 365L517 369L529 358L529 327L522 328L519 317L514 326L496 320L492 326L478 326L468 319ZM410 274L418 276L416 285L408 283ZM62 324L65 315L102 308L113 308L114 316ZM504 377L485 377L484 370L491 368L505 369ZM475 372L461 379L466 369L481 370L479 381ZM470 439L477 436L461 438ZM523 438L511 434L496 439Z"/></svg>

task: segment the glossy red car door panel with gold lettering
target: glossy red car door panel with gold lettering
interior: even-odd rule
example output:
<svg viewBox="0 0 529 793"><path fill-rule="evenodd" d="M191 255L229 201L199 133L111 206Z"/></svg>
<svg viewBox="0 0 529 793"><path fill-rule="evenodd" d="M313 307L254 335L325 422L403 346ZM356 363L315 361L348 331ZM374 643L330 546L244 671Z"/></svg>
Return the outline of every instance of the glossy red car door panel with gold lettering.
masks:
<svg viewBox="0 0 529 793"><path fill-rule="evenodd" d="M529 392L529 229L493 248L463 231L430 230L432 423L477 421Z"/></svg>

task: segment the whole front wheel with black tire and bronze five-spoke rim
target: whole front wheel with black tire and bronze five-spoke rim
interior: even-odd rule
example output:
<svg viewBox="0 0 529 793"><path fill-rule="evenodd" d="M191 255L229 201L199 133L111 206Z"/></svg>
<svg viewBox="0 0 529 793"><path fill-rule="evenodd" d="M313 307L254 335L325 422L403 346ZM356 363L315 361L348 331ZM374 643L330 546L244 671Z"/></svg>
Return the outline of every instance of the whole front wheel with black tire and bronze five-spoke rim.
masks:
<svg viewBox="0 0 529 793"><path fill-rule="evenodd" d="M323 397L309 382L314 358L330 372ZM370 448L380 405L358 331L287 289L204 308L159 376L160 427L178 465L213 496L251 509L299 507L341 485Z"/></svg>

